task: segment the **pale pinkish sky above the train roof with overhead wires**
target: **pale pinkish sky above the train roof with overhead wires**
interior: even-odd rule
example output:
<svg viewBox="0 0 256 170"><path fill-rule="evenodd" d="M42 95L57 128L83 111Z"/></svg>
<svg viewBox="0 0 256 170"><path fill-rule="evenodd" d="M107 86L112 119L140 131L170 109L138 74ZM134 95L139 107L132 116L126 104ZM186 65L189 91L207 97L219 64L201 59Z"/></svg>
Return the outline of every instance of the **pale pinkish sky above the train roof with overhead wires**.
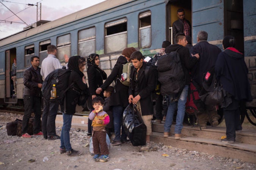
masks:
<svg viewBox="0 0 256 170"><path fill-rule="evenodd" d="M105 0L0 0L0 39L22 31L27 26L25 23L31 25L36 22L37 6L27 4L36 5L40 2L41 20L53 21L103 1Z"/></svg>

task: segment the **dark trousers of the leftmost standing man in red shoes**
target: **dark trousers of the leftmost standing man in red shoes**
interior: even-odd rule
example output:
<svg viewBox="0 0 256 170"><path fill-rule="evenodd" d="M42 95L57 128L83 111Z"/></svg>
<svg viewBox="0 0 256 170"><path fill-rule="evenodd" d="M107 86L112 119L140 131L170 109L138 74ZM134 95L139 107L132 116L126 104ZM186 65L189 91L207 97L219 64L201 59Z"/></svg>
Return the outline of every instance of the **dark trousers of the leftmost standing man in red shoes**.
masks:
<svg viewBox="0 0 256 170"><path fill-rule="evenodd" d="M31 117L32 110L35 113L35 119L33 123L33 133L39 133L40 119L41 119L41 100L37 96L24 96L24 115L22 120L22 134L27 133L28 131L28 121Z"/></svg>

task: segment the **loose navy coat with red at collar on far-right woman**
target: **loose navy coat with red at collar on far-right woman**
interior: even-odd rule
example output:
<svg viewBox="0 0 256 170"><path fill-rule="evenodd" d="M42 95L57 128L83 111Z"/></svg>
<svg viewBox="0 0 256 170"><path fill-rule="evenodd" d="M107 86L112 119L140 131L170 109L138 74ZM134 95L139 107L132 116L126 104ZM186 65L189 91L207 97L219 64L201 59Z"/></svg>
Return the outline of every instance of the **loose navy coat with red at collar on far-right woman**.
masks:
<svg viewBox="0 0 256 170"><path fill-rule="evenodd" d="M236 100L251 101L250 83L248 80L248 68L242 53L235 48L227 48L218 55L215 64L217 79L223 85L224 90L234 96Z"/></svg>

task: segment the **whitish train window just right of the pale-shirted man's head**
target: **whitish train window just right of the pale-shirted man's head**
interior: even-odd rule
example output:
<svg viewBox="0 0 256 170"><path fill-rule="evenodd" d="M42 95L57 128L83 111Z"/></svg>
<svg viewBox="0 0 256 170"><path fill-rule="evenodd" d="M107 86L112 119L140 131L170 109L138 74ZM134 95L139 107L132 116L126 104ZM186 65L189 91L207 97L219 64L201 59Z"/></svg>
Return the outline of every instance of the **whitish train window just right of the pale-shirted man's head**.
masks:
<svg viewBox="0 0 256 170"><path fill-rule="evenodd" d="M57 37L57 58L64 61L64 54L71 56L71 34Z"/></svg>

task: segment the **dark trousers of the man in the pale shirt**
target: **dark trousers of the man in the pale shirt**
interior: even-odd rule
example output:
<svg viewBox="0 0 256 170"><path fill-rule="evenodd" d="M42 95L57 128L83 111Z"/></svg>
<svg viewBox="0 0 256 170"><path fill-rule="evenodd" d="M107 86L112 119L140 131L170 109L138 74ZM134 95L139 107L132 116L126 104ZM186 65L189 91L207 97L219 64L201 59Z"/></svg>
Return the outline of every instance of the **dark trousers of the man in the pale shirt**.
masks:
<svg viewBox="0 0 256 170"><path fill-rule="evenodd" d="M58 107L58 102L49 102L44 99L44 110L42 113L42 132L44 137L56 135L55 119Z"/></svg>

